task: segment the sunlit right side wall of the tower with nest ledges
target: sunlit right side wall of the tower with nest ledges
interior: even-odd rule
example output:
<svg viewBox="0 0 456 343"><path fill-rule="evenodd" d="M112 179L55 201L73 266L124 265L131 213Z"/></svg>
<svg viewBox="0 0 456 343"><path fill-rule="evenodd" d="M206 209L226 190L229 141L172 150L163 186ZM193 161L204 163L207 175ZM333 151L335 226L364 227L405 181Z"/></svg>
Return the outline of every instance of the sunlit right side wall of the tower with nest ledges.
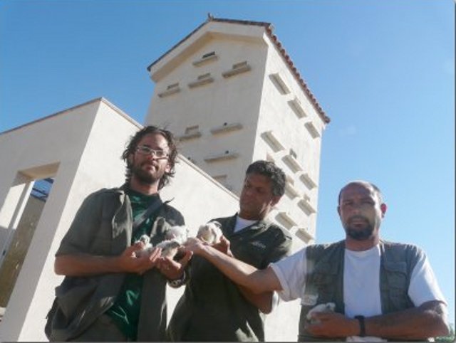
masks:
<svg viewBox="0 0 456 343"><path fill-rule="evenodd" d="M286 213L287 217L278 216L279 223L293 232L305 230L313 240L318 204L321 135L325 125L274 43L270 40L267 43L269 49L255 140L255 159L274 161L287 175L286 195L277 211ZM281 84L277 84L277 79ZM301 112L296 111L291 102L297 103ZM314 137L306 128L306 123L309 122L316 128L318 136ZM271 144L271 135L277 141L276 144ZM304 182L304 175L309 176L314 186ZM309 209L300 206L304 201L310 205Z"/></svg>

